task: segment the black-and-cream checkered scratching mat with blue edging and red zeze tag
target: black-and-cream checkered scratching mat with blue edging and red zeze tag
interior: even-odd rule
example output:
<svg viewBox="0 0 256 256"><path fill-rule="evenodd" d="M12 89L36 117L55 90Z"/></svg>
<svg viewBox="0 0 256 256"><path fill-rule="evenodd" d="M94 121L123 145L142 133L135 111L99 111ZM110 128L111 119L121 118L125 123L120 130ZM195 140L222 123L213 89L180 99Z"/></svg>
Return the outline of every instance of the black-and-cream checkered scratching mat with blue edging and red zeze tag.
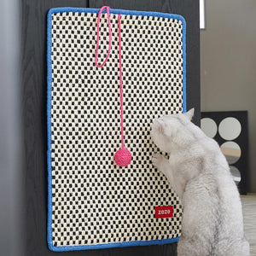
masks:
<svg viewBox="0 0 256 256"><path fill-rule="evenodd" d="M95 64L99 9L48 14L48 245L53 251L171 243L182 207L152 165L153 119L186 111L186 25L180 15L110 9L112 48ZM125 147L120 148L121 16ZM102 12L98 61L108 53Z"/></svg>

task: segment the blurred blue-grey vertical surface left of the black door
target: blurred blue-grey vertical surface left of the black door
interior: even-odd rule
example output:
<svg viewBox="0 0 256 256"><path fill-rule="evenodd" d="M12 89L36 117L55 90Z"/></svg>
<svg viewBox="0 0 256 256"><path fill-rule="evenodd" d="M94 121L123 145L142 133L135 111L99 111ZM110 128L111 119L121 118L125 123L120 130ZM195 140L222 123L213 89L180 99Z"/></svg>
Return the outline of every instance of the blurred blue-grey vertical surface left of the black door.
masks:
<svg viewBox="0 0 256 256"><path fill-rule="evenodd" d="M2 0L0 15L0 255L22 255L22 125L19 1ZM25 172L24 172L25 173Z"/></svg>

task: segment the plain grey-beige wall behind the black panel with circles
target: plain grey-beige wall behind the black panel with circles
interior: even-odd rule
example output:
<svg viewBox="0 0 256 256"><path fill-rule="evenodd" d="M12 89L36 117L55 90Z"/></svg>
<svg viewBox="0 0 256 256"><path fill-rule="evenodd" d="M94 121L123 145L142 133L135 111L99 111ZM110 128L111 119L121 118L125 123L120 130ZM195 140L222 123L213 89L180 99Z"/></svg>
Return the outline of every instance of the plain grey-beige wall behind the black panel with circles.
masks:
<svg viewBox="0 0 256 256"><path fill-rule="evenodd" d="M248 110L250 192L256 192L256 1L206 0L201 111Z"/></svg>

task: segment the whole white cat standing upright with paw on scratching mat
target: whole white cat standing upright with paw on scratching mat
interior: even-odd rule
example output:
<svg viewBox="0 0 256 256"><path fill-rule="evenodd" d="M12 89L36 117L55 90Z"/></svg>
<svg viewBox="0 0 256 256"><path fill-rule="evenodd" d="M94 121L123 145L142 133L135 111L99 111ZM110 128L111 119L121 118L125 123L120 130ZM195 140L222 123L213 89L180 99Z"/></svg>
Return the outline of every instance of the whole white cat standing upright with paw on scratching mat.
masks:
<svg viewBox="0 0 256 256"><path fill-rule="evenodd" d="M183 205L178 256L246 256L241 201L218 143L191 122L194 109L154 119L151 137L170 154L154 154Z"/></svg>

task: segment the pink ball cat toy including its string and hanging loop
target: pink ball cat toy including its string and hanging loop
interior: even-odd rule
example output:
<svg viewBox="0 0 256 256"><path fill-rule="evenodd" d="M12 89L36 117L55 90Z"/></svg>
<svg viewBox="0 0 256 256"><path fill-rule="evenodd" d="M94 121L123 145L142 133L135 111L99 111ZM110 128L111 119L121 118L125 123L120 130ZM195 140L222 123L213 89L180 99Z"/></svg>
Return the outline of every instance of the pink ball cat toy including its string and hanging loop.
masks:
<svg viewBox="0 0 256 256"><path fill-rule="evenodd" d="M98 49L99 49L99 28L100 28L100 18L102 15L102 10L107 9L108 14L108 30L109 30L109 44L108 44L108 55L102 65L99 65L97 62L98 59ZM122 148L120 148L115 154L113 159L115 160L116 164L119 166L128 166L131 163L131 152L125 148L124 143L124 114L123 114L123 81L122 81L122 61L121 61L121 15L119 17L119 83L120 83L120 104L121 104L121 138L122 138ZM108 57L110 55L111 49L111 24L110 24L110 16L109 16L109 7L103 6L100 9L98 14L97 20L97 41L96 41L96 67L103 67L105 63L108 61Z"/></svg>

